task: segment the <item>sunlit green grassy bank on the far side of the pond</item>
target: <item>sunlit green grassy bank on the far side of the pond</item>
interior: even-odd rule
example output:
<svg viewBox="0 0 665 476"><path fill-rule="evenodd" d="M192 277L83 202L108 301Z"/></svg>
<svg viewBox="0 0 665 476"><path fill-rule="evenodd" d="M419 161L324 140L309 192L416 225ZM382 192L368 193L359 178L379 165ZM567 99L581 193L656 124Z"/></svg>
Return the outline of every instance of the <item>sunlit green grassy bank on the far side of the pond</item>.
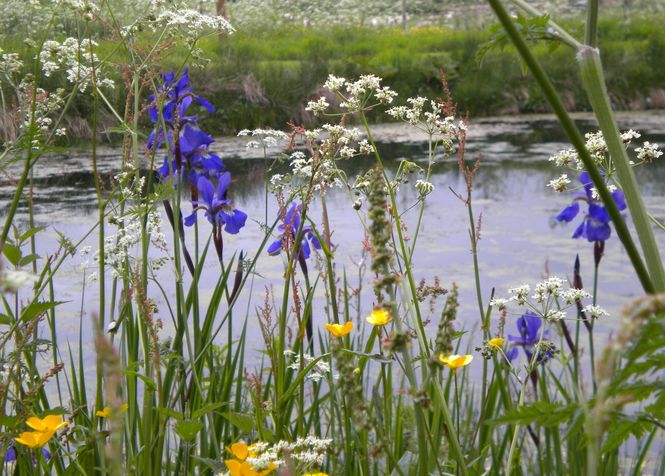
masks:
<svg viewBox="0 0 665 476"><path fill-rule="evenodd" d="M568 27L575 31L575 24ZM580 21L579 28L582 24ZM665 107L665 17L649 21L608 18L601 22L600 48L610 95L617 109ZM402 96L440 95L439 71L446 73L461 110L473 117L548 111L533 80L516 67L512 51L490 51L479 63L479 48L492 38L488 31L439 27L343 28L284 27L240 30L223 39L208 37L198 45L210 63L191 72L206 97L219 105L204 122L215 134L233 134L244 128L284 129L290 120L311 125L306 101L322 92L328 74L357 77L373 73L384 78ZM122 63L123 51L114 42L100 40L100 50L115 51L112 62ZM553 41L540 42L535 52L569 110L588 110L574 53ZM115 49L115 50L114 50ZM177 68L184 55L171 56L164 68ZM118 75L112 100L121 106L126 97ZM55 86L55 85L53 85ZM69 129L85 137L88 105L80 100L72 109ZM378 117L381 120L382 116ZM104 119L104 118L102 118ZM108 118L112 122L112 118ZM105 122L105 121L103 121Z"/></svg>

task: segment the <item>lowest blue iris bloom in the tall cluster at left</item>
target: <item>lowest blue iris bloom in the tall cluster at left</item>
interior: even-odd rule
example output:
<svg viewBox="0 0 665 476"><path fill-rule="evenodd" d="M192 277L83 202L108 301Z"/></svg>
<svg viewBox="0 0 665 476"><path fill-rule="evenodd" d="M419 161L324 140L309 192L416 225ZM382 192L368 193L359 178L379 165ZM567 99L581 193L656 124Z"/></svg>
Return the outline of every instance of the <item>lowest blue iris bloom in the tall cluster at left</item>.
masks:
<svg viewBox="0 0 665 476"><path fill-rule="evenodd" d="M196 223L196 213L199 209L204 210L204 214L210 223L214 225L224 225L227 233L235 235L245 226L247 214L233 208L233 202L226 198L227 189L231 183L231 174L224 172L217 178L217 188L206 177L199 177L196 182L201 200L193 201L194 211L185 218L185 225L192 226Z"/></svg>

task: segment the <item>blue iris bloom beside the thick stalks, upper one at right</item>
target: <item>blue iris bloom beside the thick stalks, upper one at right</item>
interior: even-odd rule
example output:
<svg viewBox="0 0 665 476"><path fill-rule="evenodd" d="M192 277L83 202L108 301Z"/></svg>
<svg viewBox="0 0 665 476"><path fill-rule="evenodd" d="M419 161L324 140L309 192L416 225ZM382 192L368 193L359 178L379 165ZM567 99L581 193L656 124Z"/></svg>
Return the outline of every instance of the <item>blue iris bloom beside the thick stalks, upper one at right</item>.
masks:
<svg viewBox="0 0 665 476"><path fill-rule="evenodd" d="M593 198L591 189L593 182L587 172L582 172L579 176L580 182L584 186L584 194L579 194L573 200L573 203L564 208L561 213L556 216L557 221L571 222L580 212L580 201L585 201L588 204L588 210L582 223L575 229L573 238L584 237L588 241L605 241L610 237L612 232L610 228L610 215L602 205L600 200ZM624 199L621 190L612 192L612 198L616 203L619 210L626 209L626 200Z"/></svg>

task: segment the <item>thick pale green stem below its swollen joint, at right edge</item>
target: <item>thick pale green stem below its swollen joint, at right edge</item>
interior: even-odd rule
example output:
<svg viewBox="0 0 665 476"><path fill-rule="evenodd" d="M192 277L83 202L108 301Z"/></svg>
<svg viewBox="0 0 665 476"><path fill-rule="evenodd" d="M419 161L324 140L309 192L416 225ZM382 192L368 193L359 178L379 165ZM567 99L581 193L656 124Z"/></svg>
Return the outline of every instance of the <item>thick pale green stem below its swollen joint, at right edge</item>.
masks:
<svg viewBox="0 0 665 476"><path fill-rule="evenodd" d="M610 98L605 87L600 52L596 48L585 46L578 52L577 60L579 61L582 73L582 84L598 119L598 124L607 144L607 150L610 153L612 163L621 183L621 188L626 196L626 204L635 224L635 230L642 245L642 252L654 286L653 291L665 291L663 262L660 257L656 238L653 234L649 215L646 212L644 201L639 192L635 173L630 166L626 148L614 120ZM603 198L603 202L606 202L605 198ZM607 206L607 203L605 205ZM618 220L612 217L612 221L616 226Z"/></svg>

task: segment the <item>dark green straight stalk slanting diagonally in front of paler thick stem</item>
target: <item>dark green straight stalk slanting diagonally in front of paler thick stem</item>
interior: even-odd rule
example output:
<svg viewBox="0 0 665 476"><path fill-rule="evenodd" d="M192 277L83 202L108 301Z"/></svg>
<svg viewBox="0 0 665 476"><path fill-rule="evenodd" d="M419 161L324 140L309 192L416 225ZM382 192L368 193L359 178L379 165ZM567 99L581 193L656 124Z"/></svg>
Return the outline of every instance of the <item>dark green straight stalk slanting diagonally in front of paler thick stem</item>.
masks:
<svg viewBox="0 0 665 476"><path fill-rule="evenodd" d="M647 272L647 269L644 266L642 257L640 256L640 253L637 247L635 246L635 243L633 242L633 238L630 235L630 232L628 231L628 227L626 226L626 223L623 221L621 213L619 212L619 209L617 208L616 203L612 198L612 195L607 189L604 177L598 170L598 166L591 158L589 151L586 149L584 138L582 137L580 131L577 129L577 126L575 125L570 115L566 111L566 108L563 106L561 98L559 98L559 95L554 89L554 85L549 80L549 78L545 74L545 71L540 66L535 56L529 49L529 46L527 45L526 41L524 40L520 32L513 24L513 20L506 11L506 9L504 8L501 0L487 0L487 2L492 7L492 10L494 10L494 13L501 22L501 25L506 30L506 33L508 34L515 48L522 57L522 60L527 65L527 67L531 71L531 74L533 74L534 78L538 82L538 85L542 89L543 94L547 98L547 101L550 103L550 106L557 115L557 118L559 119L561 126L568 135L570 142L575 147L575 150L577 151L580 160L584 164L584 168L589 173L589 176L591 177L591 180L593 181L596 190L598 190L598 194L600 195L600 198L602 199L603 204L605 205L612 222L614 222L614 227L616 229L617 235L619 236L621 243L626 249L626 253L630 258L630 261L633 265L633 268L635 269L637 277L640 280L642 288L644 289L645 292L652 293L654 291L652 278L649 276L649 273Z"/></svg>

